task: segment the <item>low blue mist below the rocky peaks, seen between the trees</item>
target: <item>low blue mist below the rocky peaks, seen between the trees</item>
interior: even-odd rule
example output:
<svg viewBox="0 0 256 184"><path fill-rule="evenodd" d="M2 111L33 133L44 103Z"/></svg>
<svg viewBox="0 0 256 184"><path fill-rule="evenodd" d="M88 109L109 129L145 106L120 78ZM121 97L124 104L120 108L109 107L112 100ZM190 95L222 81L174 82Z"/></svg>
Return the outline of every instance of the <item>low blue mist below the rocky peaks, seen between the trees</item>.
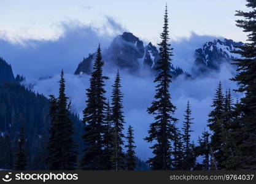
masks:
<svg viewBox="0 0 256 184"><path fill-rule="evenodd" d="M233 68L222 66L222 70L215 75L187 80L180 75L173 83L171 83L170 91L173 104L177 110L175 117L179 118L177 127L182 127L184 121L184 111L187 101L190 101L192 106L192 139L196 142L198 136L204 128L207 129L208 114L211 111L212 98L219 81L223 83L223 91L225 89L236 88L236 84L229 79L233 77ZM115 74L106 74L110 79L106 81L107 98L111 99L112 84L114 83ZM153 116L147 113L147 108L150 106L155 94L155 83L153 77L138 77L120 71L122 77L122 91L124 93L123 106L125 115L125 128L128 125L134 126L134 137L137 145L136 152L142 159L147 159L152 156L149 149L150 144L144 141L147 136L150 123L153 122ZM48 96L49 94L58 94L59 75L55 75L52 79L38 80L34 86L34 90ZM85 108L85 89L89 86L90 76L77 76L66 74L66 90L67 95L72 101L72 110L79 112L82 116L82 110ZM239 94L233 93L234 98L239 98ZM126 130L125 130L126 133Z"/></svg>

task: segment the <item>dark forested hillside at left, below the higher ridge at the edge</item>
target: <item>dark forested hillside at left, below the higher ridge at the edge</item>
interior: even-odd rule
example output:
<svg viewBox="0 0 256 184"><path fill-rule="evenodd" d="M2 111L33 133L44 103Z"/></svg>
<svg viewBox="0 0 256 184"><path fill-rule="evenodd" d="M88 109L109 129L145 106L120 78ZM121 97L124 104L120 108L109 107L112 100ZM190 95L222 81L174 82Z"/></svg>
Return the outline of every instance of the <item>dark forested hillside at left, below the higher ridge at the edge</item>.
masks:
<svg viewBox="0 0 256 184"><path fill-rule="evenodd" d="M38 159L36 153L42 142L47 142L50 126L49 105L45 96L35 94L18 83L0 85L0 136L9 134L15 150L18 132L21 124L24 123L30 169L33 169L35 159ZM74 138L81 151L83 126L77 115L71 114L71 119L76 132ZM1 146L0 148L3 149Z"/></svg>

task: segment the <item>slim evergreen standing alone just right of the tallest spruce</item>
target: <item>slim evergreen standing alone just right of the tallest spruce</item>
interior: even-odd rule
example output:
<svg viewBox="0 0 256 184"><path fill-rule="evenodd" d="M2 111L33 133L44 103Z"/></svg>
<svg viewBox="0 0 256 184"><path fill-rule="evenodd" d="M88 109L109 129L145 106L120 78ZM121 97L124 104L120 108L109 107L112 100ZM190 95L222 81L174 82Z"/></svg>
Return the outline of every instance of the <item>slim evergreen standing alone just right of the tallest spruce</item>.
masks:
<svg viewBox="0 0 256 184"><path fill-rule="evenodd" d="M182 135L182 140L184 144L184 169L187 171L190 171L192 169L192 164L193 164L193 149L192 149L192 144L190 143L190 132L191 130L191 125L192 125L192 120L191 118L192 111L190 109L190 104L189 101L187 102L187 109L185 110L185 115L184 119L185 121L183 122L183 135Z"/></svg>

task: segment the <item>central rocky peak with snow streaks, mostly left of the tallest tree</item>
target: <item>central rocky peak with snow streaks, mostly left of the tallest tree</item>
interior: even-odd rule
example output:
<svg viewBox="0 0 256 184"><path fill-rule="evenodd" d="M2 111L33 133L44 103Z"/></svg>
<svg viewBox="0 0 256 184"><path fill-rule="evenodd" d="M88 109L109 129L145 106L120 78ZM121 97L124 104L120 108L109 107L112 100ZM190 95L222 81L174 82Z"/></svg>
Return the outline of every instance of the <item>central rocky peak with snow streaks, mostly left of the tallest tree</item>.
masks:
<svg viewBox="0 0 256 184"><path fill-rule="evenodd" d="M144 43L138 37L127 32L115 37L111 45L103 50L103 60L109 71L115 71L118 68L137 74L139 69L147 69L155 73L157 72L156 63L159 58L157 47L152 45L151 42L144 47ZM75 74L90 74L94 61L95 53L83 58ZM186 74L181 68L174 66L171 66L170 72L174 77Z"/></svg>

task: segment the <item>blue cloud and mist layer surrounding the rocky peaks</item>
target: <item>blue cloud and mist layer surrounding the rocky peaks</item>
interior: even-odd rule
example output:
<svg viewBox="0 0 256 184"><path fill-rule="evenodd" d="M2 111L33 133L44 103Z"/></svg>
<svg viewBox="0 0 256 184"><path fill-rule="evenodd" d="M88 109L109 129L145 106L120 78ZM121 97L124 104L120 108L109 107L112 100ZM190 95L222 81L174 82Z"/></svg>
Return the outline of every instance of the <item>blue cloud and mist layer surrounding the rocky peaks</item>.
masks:
<svg viewBox="0 0 256 184"><path fill-rule="evenodd" d="M33 83L34 90L45 94L58 94L58 80L61 68L64 69L66 79L66 91L72 101L72 110L82 115L85 108L85 89L89 86L89 76L73 75L77 64L88 53L96 50L98 43L106 48L115 34L122 33L124 28L115 22L111 17L107 18L108 24L103 26L106 30L93 28L93 26L81 25L77 22L63 23L63 34L56 40L22 40L21 44L0 39L0 56L12 64L15 74L23 74L26 83ZM198 36L195 33L189 38L182 38L172 42L174 48L174 64L190 72L194 58L195 49L201 47L204 42L213 40L212 36ZM112 84L115 74L106 72L110 77L106 81L107 98L111 97ZM206 128L207 116L211 111L211 101L215 88L219 81L223 82L223 88L236 88L236 84L230 82L233 76L233 68L223 65L217 74L209 77L186 80L183 76L178 77L171 84L171 96L176 105L176 117L179 118L178 127L182 126L185 106L189 100L192 105L192 139L197 137ZM126 125L135 128L136 151L142 159L152 155L149 150L150 144L143 139L147 136L149 124L153 116L147 114L147 107L152 102L155 94L153 77L143 75L138 77L121 71L122 91L124 93L124 113ZM39 77L52 76L50 79L38 80ZM239 98L239 94L233 94ZM125 131L126 133L126 131Z"/></svg>

